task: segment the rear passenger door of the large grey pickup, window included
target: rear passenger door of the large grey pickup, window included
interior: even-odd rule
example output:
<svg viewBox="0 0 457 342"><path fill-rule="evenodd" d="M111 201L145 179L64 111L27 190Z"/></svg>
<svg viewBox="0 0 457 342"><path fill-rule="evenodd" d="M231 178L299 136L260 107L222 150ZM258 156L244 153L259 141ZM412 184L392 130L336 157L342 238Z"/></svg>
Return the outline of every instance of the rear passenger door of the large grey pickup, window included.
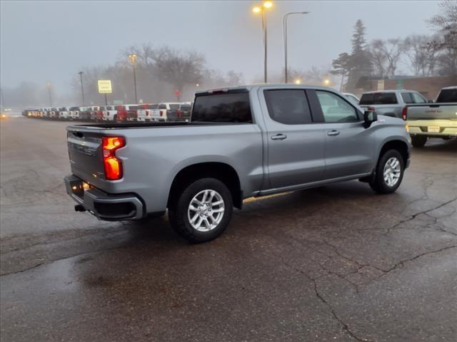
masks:
<svg viewBox="0 0 457 342"><path fill-rule="evenodd" d="M268 177L271 189L293 187L322 179L325 135L322 123L313 123L303 89L263 90L268 113Z"/></svg>

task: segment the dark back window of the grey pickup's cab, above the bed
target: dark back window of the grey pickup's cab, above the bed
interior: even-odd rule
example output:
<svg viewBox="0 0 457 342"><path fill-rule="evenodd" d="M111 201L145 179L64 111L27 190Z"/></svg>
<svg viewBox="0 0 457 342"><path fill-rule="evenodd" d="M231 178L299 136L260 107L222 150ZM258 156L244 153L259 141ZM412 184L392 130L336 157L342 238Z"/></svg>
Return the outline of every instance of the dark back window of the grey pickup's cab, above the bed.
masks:
<svg viewBox="0 0 457 342"><path fill-rule="evenodd" d="M249 93L199 95L195 99L191 121L252 123Z"/></svg>

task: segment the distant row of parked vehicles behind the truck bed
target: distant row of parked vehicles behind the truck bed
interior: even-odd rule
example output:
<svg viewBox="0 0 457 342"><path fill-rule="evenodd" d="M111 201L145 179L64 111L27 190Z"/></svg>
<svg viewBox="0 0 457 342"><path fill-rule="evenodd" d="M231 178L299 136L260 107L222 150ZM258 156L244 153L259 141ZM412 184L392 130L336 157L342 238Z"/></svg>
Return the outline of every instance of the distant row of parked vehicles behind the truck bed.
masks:
<svg viewBox="0 0 457 342"><path fill-rule="evenodd" d="M91 105L89 107L60 107L26 109L29 118L81 121L189 121L192 103L140 103L127 105Z"/></svg>

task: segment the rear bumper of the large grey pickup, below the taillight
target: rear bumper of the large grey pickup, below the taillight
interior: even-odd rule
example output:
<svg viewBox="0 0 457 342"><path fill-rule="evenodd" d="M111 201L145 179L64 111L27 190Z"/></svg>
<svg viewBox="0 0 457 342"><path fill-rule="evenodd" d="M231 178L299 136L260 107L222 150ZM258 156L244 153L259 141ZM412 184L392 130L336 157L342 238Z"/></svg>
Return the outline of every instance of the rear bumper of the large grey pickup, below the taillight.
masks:
<svg viewBox="0 0 457 342"><path fill-rule="evenodd" d="M84 190L84 181L75 175L68 175L64 180L70 197L99 219L119 221L144 217L144 204L137 195L111 195L94 187Z"/></svg>

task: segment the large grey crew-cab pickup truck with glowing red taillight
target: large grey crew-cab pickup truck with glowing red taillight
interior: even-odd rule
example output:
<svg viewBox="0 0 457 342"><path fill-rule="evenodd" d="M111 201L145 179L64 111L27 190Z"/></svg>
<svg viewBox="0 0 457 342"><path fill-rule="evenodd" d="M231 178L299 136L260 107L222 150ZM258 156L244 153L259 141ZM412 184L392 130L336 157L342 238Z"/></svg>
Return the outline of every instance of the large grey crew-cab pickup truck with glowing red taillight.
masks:
<svg viewBox="0 0 457 342"><path fill-rule="evenodd" d="M190 242L214 239L243 199L361 180L394 192L410 162L401 119L361 113L330 88L256 85L196 93L189 123L67 128L76 211L169 212Z"/></svg>

